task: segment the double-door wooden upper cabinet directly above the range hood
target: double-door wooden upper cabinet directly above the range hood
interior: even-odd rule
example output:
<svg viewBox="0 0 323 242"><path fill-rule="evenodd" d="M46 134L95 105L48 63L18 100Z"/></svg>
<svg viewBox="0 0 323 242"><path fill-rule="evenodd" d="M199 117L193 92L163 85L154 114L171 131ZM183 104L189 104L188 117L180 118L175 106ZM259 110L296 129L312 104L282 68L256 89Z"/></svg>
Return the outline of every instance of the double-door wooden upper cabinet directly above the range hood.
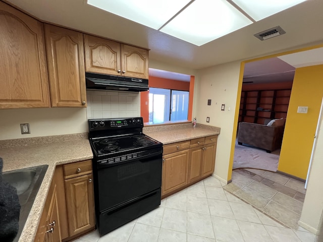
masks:
<svg viewBox="0 0 323 242"><path fill-rule="evenodd" d="M86 72L148 79L148 50L84 34Z"/></svg>

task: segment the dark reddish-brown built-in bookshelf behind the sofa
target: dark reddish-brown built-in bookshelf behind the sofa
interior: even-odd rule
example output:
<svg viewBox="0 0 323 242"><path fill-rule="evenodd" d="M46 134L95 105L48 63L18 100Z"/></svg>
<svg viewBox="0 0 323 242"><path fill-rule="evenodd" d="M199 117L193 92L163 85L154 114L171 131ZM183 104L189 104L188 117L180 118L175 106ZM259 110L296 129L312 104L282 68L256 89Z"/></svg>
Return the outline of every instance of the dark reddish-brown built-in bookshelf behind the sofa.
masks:
<svg viewBox="0 0 323 242"><path fill-rule="evenodd" d="M265 119L287 116L291 89L242 91L239 122L264 124Z"/></svg>

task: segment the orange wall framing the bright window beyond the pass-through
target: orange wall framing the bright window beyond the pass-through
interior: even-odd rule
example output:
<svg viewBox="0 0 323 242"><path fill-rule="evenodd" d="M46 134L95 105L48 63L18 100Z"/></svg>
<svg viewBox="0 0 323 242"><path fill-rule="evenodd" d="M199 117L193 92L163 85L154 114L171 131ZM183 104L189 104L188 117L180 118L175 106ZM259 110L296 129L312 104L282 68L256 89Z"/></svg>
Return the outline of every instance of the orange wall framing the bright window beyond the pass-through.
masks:
<svg viewBox="0 0 323 242"><path fill-rule="evenodd" d="M149 87L189 91L188 120L192 120L194 77L191 77L190 82L149 77ZM144 123L149 122L149 91L140 92L140 116L143 117Z"/></svg>

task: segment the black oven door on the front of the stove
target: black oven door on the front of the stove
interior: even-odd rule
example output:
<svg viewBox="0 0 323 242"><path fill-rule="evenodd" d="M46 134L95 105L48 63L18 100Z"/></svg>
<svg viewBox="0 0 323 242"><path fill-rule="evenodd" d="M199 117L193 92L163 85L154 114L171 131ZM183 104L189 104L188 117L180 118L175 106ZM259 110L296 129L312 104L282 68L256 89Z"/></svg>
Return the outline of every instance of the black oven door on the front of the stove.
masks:
<svg viewBox="0 0 323 242"><path fill-rule="evenodd" d="M161 187L163 148L119 164L99 164L97 194L99 212Z"/></svg>

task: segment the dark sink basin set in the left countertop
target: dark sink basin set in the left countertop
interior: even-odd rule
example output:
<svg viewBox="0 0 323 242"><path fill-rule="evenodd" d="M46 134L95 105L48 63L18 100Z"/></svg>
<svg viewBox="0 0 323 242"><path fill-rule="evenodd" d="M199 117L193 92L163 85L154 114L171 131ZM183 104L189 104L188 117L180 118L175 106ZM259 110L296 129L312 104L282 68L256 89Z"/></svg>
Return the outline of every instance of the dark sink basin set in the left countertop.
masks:
<svg viewBox="0 0 323 242"><path fill-rule="evenodd" d="M39 165L19 170L3 172L2 177L17 189L20 202L19 231L14 242L19 240L30 209L44 178L48 165Z"/></svg>

